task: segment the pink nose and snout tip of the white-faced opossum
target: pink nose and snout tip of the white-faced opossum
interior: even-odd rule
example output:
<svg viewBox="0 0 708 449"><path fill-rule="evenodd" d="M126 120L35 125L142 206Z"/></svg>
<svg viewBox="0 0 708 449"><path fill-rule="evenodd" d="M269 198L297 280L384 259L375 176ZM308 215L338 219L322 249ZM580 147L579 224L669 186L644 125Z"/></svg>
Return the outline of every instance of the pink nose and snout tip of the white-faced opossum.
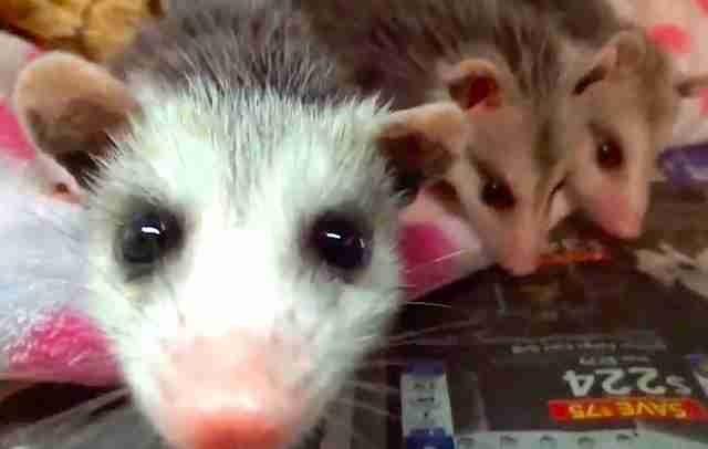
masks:
<svg viewBox="0 0 708 449"><path fill-rule="evenodd" d="M160 376L164 435L184 449L287 446L304 404L302 388L285 375L298 361L283 352L242 335L174 352ZM278 363L283 359L293 363Z"/></svg>

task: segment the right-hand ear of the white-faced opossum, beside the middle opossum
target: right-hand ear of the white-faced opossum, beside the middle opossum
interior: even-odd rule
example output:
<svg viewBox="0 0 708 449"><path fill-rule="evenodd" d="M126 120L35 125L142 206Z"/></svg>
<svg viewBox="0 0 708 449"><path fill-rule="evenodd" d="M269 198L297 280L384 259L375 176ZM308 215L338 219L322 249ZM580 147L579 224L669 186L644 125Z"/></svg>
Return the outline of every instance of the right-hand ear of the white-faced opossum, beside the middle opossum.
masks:
<svg viewBox="0 0 708 449"><path fill-rule="evenodd" d="M445 176L465 149L469 126L465 112L451 102L389 114L377 139L397 175L399 190L415 196L423 184Z"/></svg>

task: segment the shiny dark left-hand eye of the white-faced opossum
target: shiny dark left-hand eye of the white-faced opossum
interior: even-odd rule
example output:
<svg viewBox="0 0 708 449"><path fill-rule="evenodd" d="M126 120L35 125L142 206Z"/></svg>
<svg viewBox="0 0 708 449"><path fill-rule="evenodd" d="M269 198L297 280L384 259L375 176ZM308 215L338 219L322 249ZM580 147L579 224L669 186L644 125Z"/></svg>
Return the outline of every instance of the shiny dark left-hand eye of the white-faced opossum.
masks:
<svg viewBox="0 0 708 449"><path fill-rule="evenodd" d="M179 220L166 211L152 210L133 218L121 230L119 251L132 268L149 268L183 240Z"/></svg>

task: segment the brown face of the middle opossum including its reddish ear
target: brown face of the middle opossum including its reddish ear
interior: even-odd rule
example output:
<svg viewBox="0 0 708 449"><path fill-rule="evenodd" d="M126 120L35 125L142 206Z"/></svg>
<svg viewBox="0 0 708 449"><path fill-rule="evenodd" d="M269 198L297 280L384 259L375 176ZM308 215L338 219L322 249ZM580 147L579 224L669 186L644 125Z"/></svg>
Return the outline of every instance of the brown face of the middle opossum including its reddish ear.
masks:
<svg viewBox="0 0 708 449"><path fill-rule="evenodd" d="M565 138L573 116L562 86L558 101L535 107L517 94L511 74L488 62L462 63L447 80L470 126L447 179L499 264L528 274L546 246L551 207L572 157Z"/></svg>

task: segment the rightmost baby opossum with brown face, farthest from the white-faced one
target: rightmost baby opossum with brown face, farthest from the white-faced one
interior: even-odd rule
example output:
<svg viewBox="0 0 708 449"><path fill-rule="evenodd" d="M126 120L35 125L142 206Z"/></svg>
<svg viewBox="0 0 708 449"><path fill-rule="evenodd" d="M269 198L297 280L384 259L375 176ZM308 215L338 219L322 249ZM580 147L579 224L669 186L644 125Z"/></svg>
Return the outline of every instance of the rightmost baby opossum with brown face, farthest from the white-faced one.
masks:
<svg viewBox="0 0 708 449"><path fill-rule="evenodd" d="M571 111L574 132L571 202L620 238L642 232L657 153L668 144L681 100L708 87L708 76L677 73L644 30L606 0L527 0L554 17L587 67Z"/></svg>

